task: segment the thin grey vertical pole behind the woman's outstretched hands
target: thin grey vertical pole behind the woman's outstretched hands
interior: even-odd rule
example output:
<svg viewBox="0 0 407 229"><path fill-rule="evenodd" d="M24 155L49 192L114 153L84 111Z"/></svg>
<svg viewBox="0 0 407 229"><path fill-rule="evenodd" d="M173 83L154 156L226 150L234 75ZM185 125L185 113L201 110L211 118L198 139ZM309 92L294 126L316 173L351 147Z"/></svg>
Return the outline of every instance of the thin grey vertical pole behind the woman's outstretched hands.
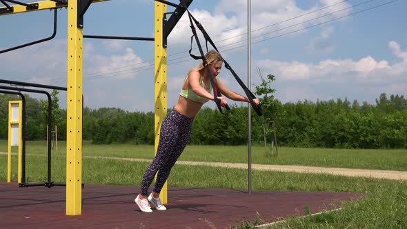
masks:
<svg viewBox="0 0 407 229"><path fill-rule="evenodd" d="M248 89L251 85L251 2L248 0ZM248 193L252 194L252 110L250 109L250 103L248 103Z"/></svg>

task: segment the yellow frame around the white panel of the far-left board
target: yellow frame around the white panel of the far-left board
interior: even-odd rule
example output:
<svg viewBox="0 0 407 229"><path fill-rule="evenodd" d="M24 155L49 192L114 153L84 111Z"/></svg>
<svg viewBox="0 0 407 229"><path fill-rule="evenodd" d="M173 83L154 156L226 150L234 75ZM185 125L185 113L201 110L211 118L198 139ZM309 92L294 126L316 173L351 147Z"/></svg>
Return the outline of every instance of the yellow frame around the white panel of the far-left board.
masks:
<svg viewBox="0 0 407 229"><path fill-rule="evenodd" d="M12 121L12 105L13 104L18 104L19 106L19 120L18 121ZM23 142L23 102L22 101L8 101L8 157L7 157L7 182L11 182L11 126L12 125L18 125L19 126L19 152L18 152L18 168L17 168L17 181L21 183L21 177L23 174L23 161L22 161L22 155L23 155L23 147L22 147L22 142Z"/></svg>

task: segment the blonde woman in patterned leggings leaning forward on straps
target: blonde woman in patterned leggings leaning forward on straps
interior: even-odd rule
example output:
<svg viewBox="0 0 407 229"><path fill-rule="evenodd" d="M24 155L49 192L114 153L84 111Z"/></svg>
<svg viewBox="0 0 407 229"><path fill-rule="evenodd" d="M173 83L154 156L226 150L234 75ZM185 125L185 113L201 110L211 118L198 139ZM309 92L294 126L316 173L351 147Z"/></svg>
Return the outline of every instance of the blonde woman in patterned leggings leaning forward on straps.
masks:
<svg viewBox="0 0 407 229"><path fill-rule="evenodd" d="M219 92L229 99L249 102L248 98L228 90L217 78L223 63L221 55L211 50L206 53L205 58ZM168 112L168 115L161 124L157 154L144 173L141 191L135 199L137 206L139 206L142 212L152 212L148 202L154 204L157 210L166 210L166 207L163 206L159 199L159 192L161 192L161 188L166 182L168 175L170 175L172 166L175 165L175 162L188 143L194 117L203 106L203 103L215 99L210 94L212 86L210 85L209 77L210 75L208 75L205 66L203 66L203 61L201 61L197 68L192 68L183 82L177 104ZM218 97L218 99L220 99L222 107L228 104L224 97ZM257 105L259 104L259 99L254 99L253 101ZM152 192L147 197L148 188L157 171L157 181Z"/></svg>

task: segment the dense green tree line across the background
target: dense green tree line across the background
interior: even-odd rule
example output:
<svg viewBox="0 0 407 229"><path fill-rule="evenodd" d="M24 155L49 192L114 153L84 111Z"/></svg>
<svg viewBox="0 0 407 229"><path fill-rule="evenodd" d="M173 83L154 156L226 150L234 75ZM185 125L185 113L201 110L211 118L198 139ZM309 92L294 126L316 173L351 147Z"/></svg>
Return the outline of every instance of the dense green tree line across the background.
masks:
<svg viewBox="0 0 407 229"><path fill-rule="evenodd" d="M252 112L252 143L270 142L275 122L279 146L320 148L407 148L407 99L403 95L380 94L376 104L337 99L281 103L271 88L275 77L261 77L255 94L261 98L264 115ZM52 92L52 126L58 139L66 140L66 110L58 106ZM26 140L46 139L48 101L26 97ZM0 94L0 139L8 138L8 101L14 94ZM190 144L242 145L248 141L248 108L232 106L229 115L203 108L195 118ZM52 127L53 130L53 127ZM83 108L83 139L92 143L154 144L154 113L128 112L119 108Z"/></svg>

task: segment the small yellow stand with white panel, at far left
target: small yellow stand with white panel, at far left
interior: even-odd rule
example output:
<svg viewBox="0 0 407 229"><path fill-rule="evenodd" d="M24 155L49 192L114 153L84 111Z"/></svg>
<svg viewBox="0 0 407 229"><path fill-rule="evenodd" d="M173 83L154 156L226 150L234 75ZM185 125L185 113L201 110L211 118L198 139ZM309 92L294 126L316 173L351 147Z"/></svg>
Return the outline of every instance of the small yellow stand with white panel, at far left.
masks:
<svg viewBox="0 0 407 229"><path fill-rule="evenodd" d="M23 174L22 160L22 101L8 102L8 166L7 166L7 182L11 182L11 146L18 146L18 162L17 162L17 181L21 183ZM17 135L17 136L16 136Z"/></svg>

